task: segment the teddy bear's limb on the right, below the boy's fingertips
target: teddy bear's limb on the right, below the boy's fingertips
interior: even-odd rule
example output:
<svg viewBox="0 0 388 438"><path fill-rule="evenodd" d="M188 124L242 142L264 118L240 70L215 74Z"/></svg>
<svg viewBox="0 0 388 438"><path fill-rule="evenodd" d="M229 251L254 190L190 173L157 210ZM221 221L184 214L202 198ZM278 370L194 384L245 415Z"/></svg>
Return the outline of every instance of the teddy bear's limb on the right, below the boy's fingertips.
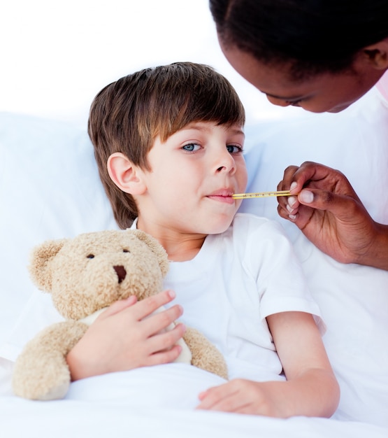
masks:
<svg viewBox="0 0 388 438"><path fill-rule="evenodd" d="M183 336L192 352L192 365L228 379L227 363L217 348L198 330L187 327Z"/></svg>

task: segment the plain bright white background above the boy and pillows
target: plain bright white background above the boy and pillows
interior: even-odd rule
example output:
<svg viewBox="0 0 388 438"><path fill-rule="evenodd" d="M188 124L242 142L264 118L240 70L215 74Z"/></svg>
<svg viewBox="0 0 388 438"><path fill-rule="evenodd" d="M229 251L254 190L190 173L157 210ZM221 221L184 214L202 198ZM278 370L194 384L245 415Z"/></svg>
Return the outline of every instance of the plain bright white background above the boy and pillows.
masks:
<svg viewBox="0 0 388 438"><path fill-rule="evenodd" d="M294 115L272 106L229 66L208 0L3 0L0 111L86 125L102 87L138 69L176 61L227 76L247 123Z"/></svg>

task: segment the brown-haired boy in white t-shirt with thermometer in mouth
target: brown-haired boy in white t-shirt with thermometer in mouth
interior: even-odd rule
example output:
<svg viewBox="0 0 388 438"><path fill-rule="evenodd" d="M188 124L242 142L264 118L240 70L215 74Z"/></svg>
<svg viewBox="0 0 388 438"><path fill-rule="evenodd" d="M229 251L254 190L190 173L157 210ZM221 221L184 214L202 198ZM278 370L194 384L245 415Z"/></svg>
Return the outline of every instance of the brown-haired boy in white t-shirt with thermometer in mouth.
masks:
<svg viewBox="0 0 388 438"><path fill-rule="evenodd" d="M171 261L164 285L185 308L182 319L227 359L231 381L199 395L199 409L331 416L338 383L322 344L319 309L292 248L275 223L236 215L240 201L232 195L247 183L244 122L243 106L223 76L182 62L138 71L101 90L89 136L117 223L164 246ZM144 307L155 302L129 304L111 306L108 316L131 311L138 336L113 348L110 339L122 338L116 327L124 318L109 325L97 320L69 353L73 379L169 362L178 353L172 341L183 327L170 337L158 332L180 307L143 320ZM144 351L142 340L154 353ZM103 358L102 365L93 355L85 365L82 350L96 344L94 358ZM137 357L128 357L134 351Z"/></svg>

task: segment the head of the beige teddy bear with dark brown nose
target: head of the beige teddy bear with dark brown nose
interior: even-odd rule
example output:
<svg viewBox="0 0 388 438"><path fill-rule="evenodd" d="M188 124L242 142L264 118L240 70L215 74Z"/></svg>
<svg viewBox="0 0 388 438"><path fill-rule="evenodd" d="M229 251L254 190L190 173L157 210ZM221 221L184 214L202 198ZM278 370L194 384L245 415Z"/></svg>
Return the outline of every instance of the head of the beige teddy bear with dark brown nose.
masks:
<svg viewBox="0 0 388 438"><path fill-rule="evenodd" d="M80 319L117 299L159 292L168 259L145 232L108 230L45 241L34 248L29 271L62 316Z"/></svg>

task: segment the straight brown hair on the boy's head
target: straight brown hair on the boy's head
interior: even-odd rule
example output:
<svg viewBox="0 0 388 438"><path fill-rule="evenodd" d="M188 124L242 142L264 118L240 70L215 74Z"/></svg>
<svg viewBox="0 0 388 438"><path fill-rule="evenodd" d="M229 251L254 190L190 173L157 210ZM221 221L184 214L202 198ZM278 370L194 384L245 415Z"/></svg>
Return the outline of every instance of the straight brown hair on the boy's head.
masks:
<svg viewBox="0 0 388 438"><path fill-rule="evenodd" d="M138 216L134 198L110 179L107 162L115 152L148 169L148 152L157 138L191 122L244 125L245 111L236 91L210 66L176 62L143 69L107 85L96 95L88 133L99 175L115 220L125 229Z"/></svg>

